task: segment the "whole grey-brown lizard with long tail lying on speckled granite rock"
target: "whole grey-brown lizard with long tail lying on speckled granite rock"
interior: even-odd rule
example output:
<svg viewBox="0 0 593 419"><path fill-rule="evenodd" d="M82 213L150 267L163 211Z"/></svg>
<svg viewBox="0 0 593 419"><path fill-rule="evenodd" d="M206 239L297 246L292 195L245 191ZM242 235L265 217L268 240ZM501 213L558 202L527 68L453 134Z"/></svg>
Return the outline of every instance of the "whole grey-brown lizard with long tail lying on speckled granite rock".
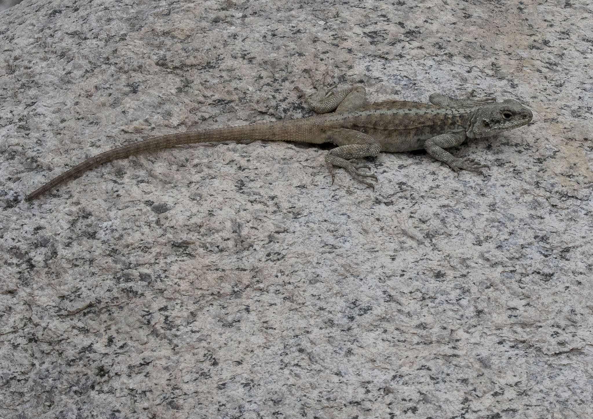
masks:
<svg viewBox="0 0 593 419"><path fill-rule="evenodd" d="M130 143L86 159L32 191L25 200L33 200L59 184L113 160L140 152L205 142L333 143L336 148L330 149L325 156L331 183L335 180L336 167L339 167L355 181L373 190L378 178L362 172L362 169L371 168L358 164L356 159L377 156L380 152L425 149L458 176L460 169L484 175L482 168L489 169L488 165L471 158L457 158L445 148L458 146L467 139L490 137L524 126L533 118L527 107L513 99L497 102L493 97L458 99L434 93L429 96L429 104L403 100L368 104L362 86L334 90L333 87L324 88L323 83L313 82L313 87L317 93L311 97L307 97L303 89L295 89L305 95L304 101L317 113L315 116L174 133Z"/></svg>

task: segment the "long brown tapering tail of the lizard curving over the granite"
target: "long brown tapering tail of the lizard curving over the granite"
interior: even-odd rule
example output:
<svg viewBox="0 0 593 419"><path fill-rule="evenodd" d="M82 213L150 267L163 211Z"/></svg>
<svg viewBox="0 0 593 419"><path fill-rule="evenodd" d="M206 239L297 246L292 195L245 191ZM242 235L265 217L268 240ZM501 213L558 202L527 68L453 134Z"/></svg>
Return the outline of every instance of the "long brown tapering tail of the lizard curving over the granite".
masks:
<svg viewBox="0 0 593 419"><path fill-rule="evenodd" d="M37 188L28 194L25 197L25 200L33 200L41 194L46 193L50 189L58 186L59 184L71 179L75 179L84 174L84 172L94 169L95 167L98 167L104 163L117 159L123 159L136 153L157 151L176 145L192 143L253 140L307 141L307 130L299 130L298 128L295 129L295 125L302 124L302 128L307 126L307 124L299 121L304 120L291 121L293 123L291 125L291 129L286 126L286 122L288 121L278 121L262 124L249 124L238 127L225 127L204 131L169 134L131 143L88 158L81 164L78 164L75 167L66 170L59 176L53 178L42 187Z"/></svg>

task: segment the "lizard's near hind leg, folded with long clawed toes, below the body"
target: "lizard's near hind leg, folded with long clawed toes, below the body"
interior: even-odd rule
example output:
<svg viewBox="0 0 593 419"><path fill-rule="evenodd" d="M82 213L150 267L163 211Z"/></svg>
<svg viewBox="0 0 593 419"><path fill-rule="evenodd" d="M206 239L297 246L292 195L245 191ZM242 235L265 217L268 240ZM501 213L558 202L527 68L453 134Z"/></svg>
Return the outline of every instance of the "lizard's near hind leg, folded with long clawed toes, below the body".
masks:
<svg viewBox="0 0 593 419"><path fill-rule="evenodd" d="M336 148L331 149L326 154L326 167L331 174L331 184L333 184L334 178L336 177L336 169L334 166L337 166L345 168L346 172L348 172L354 180L375 189L375 185L366 180L366 178L373 178L375 182L377 182L377 176L360 172L360 169L370 169L370 167L356 164L352 160L377 156L381 151L379 142L365 133L349 129L336 129L331 131L327 135L327 141L337 145Z"/></svg>

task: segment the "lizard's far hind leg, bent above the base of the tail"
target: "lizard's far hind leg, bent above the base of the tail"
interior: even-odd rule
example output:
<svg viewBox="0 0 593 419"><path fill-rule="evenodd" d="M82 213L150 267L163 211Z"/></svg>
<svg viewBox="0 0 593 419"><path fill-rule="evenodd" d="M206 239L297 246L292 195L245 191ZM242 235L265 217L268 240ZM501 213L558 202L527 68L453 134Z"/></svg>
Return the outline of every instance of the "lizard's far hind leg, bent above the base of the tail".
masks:
<svg viewBox="0 0 593 419"><path fill-rule="evenodd" d="M311 72L307 71L311 77ZM302 94L307 103L315 113L328 113L336 111L336 113L343 113L362 107L366 104L366 90L362 86L354 86L346 89L332 91L334 86L325 88L323 84L317 83L311 77L313 87L317 93L311 97L307 97L305 92L300 87L295 87L300 94Z"/></svg>

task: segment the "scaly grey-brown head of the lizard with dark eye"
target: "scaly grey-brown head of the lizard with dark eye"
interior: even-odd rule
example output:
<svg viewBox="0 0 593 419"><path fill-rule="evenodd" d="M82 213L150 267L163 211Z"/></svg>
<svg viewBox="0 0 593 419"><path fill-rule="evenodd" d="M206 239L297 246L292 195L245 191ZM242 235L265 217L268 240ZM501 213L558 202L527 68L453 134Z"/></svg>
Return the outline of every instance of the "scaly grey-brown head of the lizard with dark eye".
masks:
<svg viewBox="0 0 593 419"><path fill-rule="evenodd" d="M527 125L532 118L533 113L521 103L505 99L502 102L481 106L467 134L474 137L489 137L501 131Z"/></svg>

